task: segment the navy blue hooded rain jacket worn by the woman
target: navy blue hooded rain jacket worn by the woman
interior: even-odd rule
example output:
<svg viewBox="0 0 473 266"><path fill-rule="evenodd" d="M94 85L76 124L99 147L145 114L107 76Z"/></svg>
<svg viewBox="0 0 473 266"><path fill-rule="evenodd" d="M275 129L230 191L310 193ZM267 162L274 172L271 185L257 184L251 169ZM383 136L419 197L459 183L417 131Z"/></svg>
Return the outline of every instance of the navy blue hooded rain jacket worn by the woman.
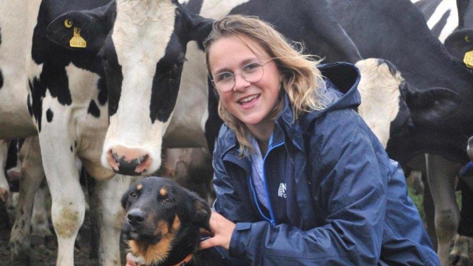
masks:
<svg viewBox="0 0 473 266"><path fill-rule="evenodd" d="M253 265L440 265L404 173L354 110L358 69L319 68L327 108L294 122L285 95L275 121L263 162L268 209L235 133L221 127L214 208L236 222L230 255Z"/></svg>

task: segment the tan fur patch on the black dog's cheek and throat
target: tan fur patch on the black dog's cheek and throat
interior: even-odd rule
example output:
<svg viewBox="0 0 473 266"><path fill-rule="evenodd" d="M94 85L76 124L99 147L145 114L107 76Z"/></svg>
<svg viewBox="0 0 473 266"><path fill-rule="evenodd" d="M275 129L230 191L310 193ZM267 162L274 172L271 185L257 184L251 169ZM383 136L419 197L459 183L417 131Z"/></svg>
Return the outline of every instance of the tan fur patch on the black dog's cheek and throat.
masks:
<svg viewBox="0 0 473 266"><path fill-rule="evenodd" d="M148 245L147 243L138 242L136 240L128 240L129 251L136 257L144 258L146 265L159 264L168 258L174 237L181 227L181 220L176 215L174 216L171 230L169 230L169 226L164 221L162 221L162 223L159 221L156 229L158 230L160 227L164 227L160 230L162 230L162 233L166 233L162 234L162 238L157 244Z"/></svg>

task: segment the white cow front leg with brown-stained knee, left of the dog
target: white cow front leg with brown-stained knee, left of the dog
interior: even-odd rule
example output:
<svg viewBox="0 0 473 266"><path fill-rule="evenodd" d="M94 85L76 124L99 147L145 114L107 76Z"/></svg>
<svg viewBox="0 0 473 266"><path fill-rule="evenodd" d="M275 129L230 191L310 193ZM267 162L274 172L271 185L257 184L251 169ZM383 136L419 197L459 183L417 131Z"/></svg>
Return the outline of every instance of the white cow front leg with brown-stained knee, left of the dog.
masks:
<svg viewBox="0 0 473 266"><path fill-rule="evenodd" d="M58 240L56 265L74 265L74 243L84 221L85 197L76 169L76 128L70 123L71 110L54 99L43 100L43 118L50 108L52 121L43 119L39 132L41 155L51 194L51 218Z"/></svg>

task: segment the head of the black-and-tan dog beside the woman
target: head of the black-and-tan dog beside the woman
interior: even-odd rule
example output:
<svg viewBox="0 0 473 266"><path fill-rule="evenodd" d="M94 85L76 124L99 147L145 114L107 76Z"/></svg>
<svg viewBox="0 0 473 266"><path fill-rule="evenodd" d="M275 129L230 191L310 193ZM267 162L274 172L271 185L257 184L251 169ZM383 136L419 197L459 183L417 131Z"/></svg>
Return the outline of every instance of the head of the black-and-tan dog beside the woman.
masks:
<svg viewBox="0 0 473 266"><path fill-rule="evenodd" d="M123 195L122 206L122 233L142 264L175 265L197 249L201 227L210 231L207 203L170 179L135 182Z"/></svg>

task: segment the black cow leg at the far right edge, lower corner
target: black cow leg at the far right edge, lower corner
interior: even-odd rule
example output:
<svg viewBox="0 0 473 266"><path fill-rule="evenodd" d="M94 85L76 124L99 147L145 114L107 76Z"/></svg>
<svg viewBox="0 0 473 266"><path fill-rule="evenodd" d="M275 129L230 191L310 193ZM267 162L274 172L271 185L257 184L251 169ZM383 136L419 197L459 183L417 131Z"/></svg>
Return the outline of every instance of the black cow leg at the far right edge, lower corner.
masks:
<svg viewBox="0 0 473 266"><path fill-rule="evenodd" d="M466 177L471 181L472 177ZM471 183L471 182L470 182ZM473 244L473 191L470 186L460 180L461 202L460 223L458 234L448 259L453 265L469 265L468 251Z"/></svg>

